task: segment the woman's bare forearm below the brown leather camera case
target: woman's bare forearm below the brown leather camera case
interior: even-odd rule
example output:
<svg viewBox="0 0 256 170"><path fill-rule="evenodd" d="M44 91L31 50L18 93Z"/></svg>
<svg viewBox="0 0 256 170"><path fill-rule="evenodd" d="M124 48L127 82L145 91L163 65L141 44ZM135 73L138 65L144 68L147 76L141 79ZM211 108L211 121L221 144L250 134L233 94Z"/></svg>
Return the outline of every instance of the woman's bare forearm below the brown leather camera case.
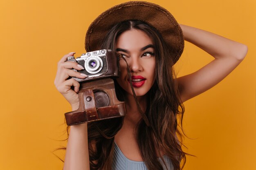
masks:
<svg viewBox="0 0 256 170"><path fill-rule="evenodd" d="M63 170L90 170L86 123L70 127Z"/></svg>

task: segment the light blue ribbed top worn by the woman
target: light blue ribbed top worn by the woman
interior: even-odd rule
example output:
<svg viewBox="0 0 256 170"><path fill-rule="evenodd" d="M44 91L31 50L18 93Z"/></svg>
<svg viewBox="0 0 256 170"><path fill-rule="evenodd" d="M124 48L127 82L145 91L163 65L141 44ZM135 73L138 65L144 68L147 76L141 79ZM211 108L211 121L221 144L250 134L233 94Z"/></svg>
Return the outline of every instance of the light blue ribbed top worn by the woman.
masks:
<svg viewBox="0 0 256 170"><path fill-rule="evenodd" d="M171 159L167 156L163 156L164 161L167 166L167 170L173 170L173 164L171 163ZM162 163L164 170L166 167L160 158L159 161ZM144 161L132 161L124 156L123 152L121 152L120 148L115 143L115 150L114 150L114 158L112 164L112 170L148 170Z"/></svg>

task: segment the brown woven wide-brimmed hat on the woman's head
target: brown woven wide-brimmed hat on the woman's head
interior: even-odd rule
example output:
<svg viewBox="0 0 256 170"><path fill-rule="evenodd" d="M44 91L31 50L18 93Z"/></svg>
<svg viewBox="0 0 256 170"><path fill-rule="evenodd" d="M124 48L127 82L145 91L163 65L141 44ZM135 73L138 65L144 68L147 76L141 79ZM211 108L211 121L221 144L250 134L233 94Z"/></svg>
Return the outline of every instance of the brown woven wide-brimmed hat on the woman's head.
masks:
<svg viewBox="0 0 256 170"><path fill-rule="evenodd" d="M144 1L130 1L116 5L101 13L90 24L85 36L85 50L96 51L100 49L103 39L108 31L117 23L126 20L139 20L153 26L170 46L179 60L184 49L182 29L173 15L157 4Z"/></svg>

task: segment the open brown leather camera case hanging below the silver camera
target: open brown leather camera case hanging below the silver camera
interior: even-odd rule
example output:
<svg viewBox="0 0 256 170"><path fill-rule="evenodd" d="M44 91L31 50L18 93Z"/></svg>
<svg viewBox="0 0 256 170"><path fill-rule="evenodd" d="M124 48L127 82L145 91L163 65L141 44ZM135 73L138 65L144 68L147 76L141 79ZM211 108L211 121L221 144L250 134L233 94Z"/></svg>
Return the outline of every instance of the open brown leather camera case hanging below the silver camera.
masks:
<svg viewBox="0 0 256 170"><path fill-rule="evenodd" d="M82 124L100 119L109 119L121 117L126 114L124 102L120 102L115 93L114 81L110 78L98 79L90 82L84 82L79 90L79 108L75 111L65 113L67 125ZM106 105L96 108L97 99L106 99ZM103 94L103 97L101 97ZM99 96L99 97L98 97Z"/></svg>

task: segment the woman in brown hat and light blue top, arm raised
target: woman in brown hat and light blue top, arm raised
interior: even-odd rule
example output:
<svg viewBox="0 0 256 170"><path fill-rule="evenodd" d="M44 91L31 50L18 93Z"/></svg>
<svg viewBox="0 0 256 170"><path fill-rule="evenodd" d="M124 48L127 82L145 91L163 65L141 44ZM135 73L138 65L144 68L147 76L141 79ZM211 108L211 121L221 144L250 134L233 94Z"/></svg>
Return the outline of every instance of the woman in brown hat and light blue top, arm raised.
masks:
<svg viewBox="0 0 256 170"><path fill-rule="evenodd" d="M134 14L136 11L140 13ZM115 26L112 25L114 21L107 20L113 18L114 14L119 14L115 15ZM164 22L158 22L157 18ZM99 23L103 23L105 30ZM166 25L170 27L167 33ZM104 39L94 36L98 36L99 31L108 31L103 34ZM172 35L171 39L168 39L169 35ZM215 60L195 73L176 78L171 66L183 51L183 38L212 55ZM181 149L182 143L176 136L180 135L177 130L177 114L184 113L182 103L220 82L238 66L247 53L244 44L177 24L166 9L148 2L126 2L102 13L88 29L85 45L87 51L112 49L124 56L146 119L142 119L139 110L134 107L136 103L126 63L121 60L121 75L116 80L116 90L117 97L126 102L127 115L121 119L71 126L65 170L179 170L182 159L184 162L186 160ZM87 75L70 70L84 69L74 62L65 62L68 56L73 55L64 55L58 63L55 85L70 102L72 110L76 110L79 106L79 83L67 78L85 78ZM71 86L74 86L74 91ZM106 135L115 137L102 137L96 126Z"/></svg>

